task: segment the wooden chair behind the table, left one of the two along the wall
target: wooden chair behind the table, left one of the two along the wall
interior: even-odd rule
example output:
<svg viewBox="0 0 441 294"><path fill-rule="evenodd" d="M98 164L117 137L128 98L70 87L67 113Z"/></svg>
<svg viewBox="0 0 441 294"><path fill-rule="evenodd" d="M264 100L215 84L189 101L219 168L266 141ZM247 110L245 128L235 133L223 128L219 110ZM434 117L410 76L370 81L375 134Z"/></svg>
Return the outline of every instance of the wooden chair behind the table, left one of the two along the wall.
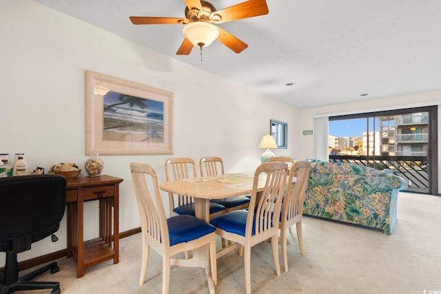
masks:
<svg viewBox="0 0 441 294"><path fill-rule="evenodd" d="M196 162L192 158L176 157L167 158L165 160L165 178L168 180L184 180L188 178L196 178ZM168 193L170 204L170 216L174 214L187 214L195 216L194 199L189 196L176 195ZM210 202L209 215L210 218L219 216L225 211L225 207L221 204Z"/></svg>

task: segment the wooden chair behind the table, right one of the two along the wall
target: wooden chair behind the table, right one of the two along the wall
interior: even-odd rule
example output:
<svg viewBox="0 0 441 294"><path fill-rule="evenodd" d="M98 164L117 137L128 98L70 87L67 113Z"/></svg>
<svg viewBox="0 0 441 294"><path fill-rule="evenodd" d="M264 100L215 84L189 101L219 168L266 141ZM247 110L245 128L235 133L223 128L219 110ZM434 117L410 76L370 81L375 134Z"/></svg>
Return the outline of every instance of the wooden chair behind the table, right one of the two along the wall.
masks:
<svg viewBox="0 0 441 294"><path fill-rule="evenodd" d="M201 176L218 176L225 174L223 168L223 160L220 157L203 157L199 160L199 169ZM245 196L236 196L223 199L210 199L225 207L225 213L234 210L247 209L249 206L249 198Z"/></svg>

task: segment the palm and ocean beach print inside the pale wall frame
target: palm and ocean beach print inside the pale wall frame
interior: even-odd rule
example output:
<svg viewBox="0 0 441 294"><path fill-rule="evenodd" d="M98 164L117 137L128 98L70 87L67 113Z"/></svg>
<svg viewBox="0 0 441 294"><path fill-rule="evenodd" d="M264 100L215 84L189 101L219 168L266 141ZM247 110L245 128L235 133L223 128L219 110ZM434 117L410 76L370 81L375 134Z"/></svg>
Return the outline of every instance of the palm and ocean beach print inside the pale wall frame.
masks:
<svg viewBox="0 0 441 294"><path fill-rule="evenodd" d="M107 92L102 134L103 141L164 143L164 103Z"/></svg>

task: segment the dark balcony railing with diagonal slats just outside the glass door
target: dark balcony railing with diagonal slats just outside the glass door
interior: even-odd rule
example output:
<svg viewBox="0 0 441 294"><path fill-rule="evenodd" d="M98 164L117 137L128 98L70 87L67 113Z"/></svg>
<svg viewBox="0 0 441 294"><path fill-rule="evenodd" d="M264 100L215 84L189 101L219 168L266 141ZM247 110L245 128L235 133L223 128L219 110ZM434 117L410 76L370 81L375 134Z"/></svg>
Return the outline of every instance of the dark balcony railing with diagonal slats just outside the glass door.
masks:
<svg viewBox="0 0 441 294"><path fill-rule="evenodd" d="M404 178L409 182L406 191L416 191L421 193L429 192L429 172L426 156L346 156L329 155L330 162L349 162L365 167L383 170L391 169L393 174Z"/></svg>

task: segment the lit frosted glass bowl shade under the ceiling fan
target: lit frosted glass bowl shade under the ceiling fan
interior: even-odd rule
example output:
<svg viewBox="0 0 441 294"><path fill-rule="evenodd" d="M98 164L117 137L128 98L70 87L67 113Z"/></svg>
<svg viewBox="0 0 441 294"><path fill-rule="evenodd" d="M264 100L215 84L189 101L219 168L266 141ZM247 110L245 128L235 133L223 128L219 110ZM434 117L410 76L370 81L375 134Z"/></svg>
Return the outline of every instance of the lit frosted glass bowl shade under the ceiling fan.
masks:
<svg viewBox="0 0 441 294"><path fill-rule="evenodd" d="M185 25L182 30L185 38L189 39L193 45L203 48L213 43L219 35L216 25L205 21L196 21Z"/></svg>

